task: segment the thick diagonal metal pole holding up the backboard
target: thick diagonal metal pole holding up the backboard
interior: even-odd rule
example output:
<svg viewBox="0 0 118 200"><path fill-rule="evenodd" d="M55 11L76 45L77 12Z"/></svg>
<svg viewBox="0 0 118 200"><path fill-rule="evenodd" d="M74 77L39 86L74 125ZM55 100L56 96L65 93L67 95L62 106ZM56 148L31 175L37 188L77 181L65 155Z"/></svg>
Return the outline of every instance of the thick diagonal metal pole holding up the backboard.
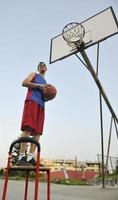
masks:
<svg viewBox="0 0 118 200"><path fill-rule="evenodd" d="M93 69L93 66L92 66L92 64L91 64L86 52L83 49L81 49L80 53L81 53L83 59L85 60L85 63L88 66L88 69L91 72L91 74L92 74L92 76L93 76L93 78L94 78L94 80L95 80L95 82L96 82L96 84L97 84L97 86L98 86L98 88L99 88L99 90L101 92L101 95L103 96L103 98L104 98L104 100L105 100L105 102L106 102L106 104L107 104L112 116L115 118L116 122L118 123L118 118L117 118L117 116L116 116L116 114L115 114L115 112L114 112L114 110L113 110L113 108L112 108L112 106L111 106L106 94L105 94L105 91L104 91L104 89L103 89L103 87L102 87L102 85L101 85L101 83L100 83L100 81L99 81L94 69Z"/></svg>

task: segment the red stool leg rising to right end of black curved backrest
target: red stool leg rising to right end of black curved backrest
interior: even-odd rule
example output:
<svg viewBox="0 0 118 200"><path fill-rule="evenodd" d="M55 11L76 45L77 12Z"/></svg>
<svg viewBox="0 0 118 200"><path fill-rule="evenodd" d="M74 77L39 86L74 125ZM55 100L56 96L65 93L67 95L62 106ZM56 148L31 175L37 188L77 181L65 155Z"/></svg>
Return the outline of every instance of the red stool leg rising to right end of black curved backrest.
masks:
<svg viewBox="0 0 118 200"><path fill-rule="evenodd" d="M38 200L38 183L39 183L39 170L40 170L39 168L40 168L40 152L37 152L34 200Z"/></svg>

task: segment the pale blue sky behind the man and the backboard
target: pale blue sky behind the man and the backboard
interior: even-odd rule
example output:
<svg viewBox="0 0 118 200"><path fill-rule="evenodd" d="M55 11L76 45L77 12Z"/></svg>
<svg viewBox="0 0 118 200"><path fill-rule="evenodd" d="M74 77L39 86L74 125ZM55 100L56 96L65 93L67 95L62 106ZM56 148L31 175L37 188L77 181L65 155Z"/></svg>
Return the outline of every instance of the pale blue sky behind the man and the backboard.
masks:
<svg viewBox="0 0 118 200"><path fill-rule="evenodd" d="M0 0L0 166L6 164L11 142L21 131L27 89L22 81L36 71L40 61L48 65L46 80L57 96L46 103L41 157L95 161L101 154L99 91L90 72L72 55L49 64L51 38L63 27L81 22L112 6L118 18L117 0ZM101 22L102 23L102 22ZM105 26L105 24L104 24ZM118 115L118 34L100 44L99 79ZM96 68L96 46L86 50ZM79 55L79 53L78 53ZM111 114L103 101L104 152L107 152ZM110 155L118 156L113 127Z"/></svg>

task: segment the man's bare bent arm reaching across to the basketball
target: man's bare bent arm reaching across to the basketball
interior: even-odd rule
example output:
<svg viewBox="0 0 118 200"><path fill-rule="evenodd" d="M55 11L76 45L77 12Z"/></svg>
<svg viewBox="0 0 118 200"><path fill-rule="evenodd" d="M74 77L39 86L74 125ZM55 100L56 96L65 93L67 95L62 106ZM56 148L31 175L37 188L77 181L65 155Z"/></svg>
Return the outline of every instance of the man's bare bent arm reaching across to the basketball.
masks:
<svg viewBox="0 0 118 200"><path fill-rule="evenodd" d="M22 82L22 86L32 88L32 89L37 88L37 89L43 90L46 84L32 83L31 81L34 78L34 76L35 76L35 72L32 72L31 74L29 74L29 76L26 79L24 79L24 81Z"/></svg>

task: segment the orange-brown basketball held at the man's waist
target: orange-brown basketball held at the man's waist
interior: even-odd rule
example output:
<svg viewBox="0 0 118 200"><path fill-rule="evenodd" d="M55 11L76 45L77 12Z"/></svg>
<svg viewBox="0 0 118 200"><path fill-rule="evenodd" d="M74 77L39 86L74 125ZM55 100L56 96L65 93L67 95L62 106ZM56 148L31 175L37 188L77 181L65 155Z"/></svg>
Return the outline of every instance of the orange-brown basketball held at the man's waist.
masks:
<svg viewBox="0 0 118 200"><path fill-rule="evenodd" d="M57 90L53 85L48 85L43 90L44 99L48 101L54 99L56 97L56 94L57 94Z"/></svg>

